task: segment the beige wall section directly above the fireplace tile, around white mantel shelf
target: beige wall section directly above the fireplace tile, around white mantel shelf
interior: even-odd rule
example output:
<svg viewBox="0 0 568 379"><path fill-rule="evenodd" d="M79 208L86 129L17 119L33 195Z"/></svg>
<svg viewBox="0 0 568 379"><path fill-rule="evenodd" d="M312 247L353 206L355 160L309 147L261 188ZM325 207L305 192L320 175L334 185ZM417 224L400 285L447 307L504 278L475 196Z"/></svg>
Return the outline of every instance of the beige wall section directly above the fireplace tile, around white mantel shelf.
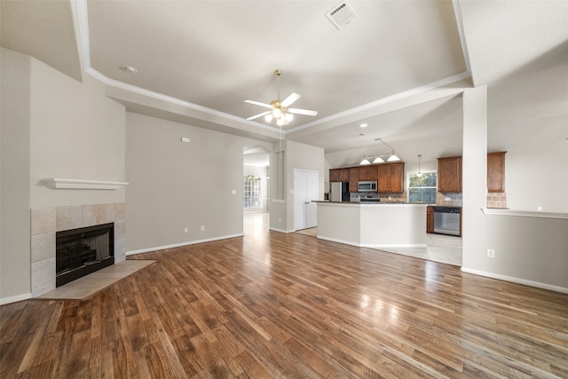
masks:
<svg viewBox="0 0 568 379"><path fill-rule="evenodd" d="M122 182L125 109L89 75L76 82L32 59L30 108L31 208L124 202L115 191L51 190L42 178Z"/></svg>

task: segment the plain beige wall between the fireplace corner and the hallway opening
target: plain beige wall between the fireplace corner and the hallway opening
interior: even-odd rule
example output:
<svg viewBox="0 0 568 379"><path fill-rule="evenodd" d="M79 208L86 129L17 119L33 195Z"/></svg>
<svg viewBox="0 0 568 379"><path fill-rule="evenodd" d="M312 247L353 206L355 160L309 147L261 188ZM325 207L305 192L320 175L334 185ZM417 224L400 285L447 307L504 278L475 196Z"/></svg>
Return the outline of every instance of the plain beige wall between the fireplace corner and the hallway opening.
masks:
<svg viewBox="0 0 568 379"><path fill-rule="evenodd" d="M191 142L181 142L182 137ZM251 145L271 148L127 113L127 254L241 235L242 152Z"/></svg>

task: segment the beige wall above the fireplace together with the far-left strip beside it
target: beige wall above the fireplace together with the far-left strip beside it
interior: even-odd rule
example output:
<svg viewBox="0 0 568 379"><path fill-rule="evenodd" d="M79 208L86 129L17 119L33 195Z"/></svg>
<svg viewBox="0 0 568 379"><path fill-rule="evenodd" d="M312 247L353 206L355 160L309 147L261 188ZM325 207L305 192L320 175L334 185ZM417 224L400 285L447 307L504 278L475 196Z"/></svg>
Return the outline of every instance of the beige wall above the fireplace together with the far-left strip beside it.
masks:
<svg viewBox="0 0 568 379"><path fill-rule="evenodd" d="M31 293L30 209L124 202L124 191L51 190L41 178L124 181L124 107L26 55L2 49L0 302Z"/></svg>

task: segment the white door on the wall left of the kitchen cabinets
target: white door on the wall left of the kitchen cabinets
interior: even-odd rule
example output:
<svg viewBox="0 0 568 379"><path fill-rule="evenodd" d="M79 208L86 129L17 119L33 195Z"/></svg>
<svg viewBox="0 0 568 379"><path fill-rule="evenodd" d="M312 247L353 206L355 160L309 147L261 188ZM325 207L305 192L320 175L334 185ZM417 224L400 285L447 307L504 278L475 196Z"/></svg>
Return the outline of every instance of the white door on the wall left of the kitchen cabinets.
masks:
<svg viewBox="0 0 568 379"><path fill-rule="evenodd" d="M294 230L318 225L318 171L294 170Z"/></svg>

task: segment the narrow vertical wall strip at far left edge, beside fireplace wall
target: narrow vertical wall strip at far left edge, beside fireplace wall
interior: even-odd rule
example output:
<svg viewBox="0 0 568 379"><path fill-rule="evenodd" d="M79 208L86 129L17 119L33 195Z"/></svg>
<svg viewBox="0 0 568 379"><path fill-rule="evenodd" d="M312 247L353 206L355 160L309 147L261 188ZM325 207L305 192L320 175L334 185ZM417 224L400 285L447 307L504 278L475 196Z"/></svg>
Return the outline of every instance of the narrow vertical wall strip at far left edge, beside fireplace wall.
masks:
<svg viewBox="0 0 568 379"><path fill-rule="evenodd" d="M0 50L0 304L31 296L29 248L30 58ZM9 302L7 300L6 302Z"/></svg>

